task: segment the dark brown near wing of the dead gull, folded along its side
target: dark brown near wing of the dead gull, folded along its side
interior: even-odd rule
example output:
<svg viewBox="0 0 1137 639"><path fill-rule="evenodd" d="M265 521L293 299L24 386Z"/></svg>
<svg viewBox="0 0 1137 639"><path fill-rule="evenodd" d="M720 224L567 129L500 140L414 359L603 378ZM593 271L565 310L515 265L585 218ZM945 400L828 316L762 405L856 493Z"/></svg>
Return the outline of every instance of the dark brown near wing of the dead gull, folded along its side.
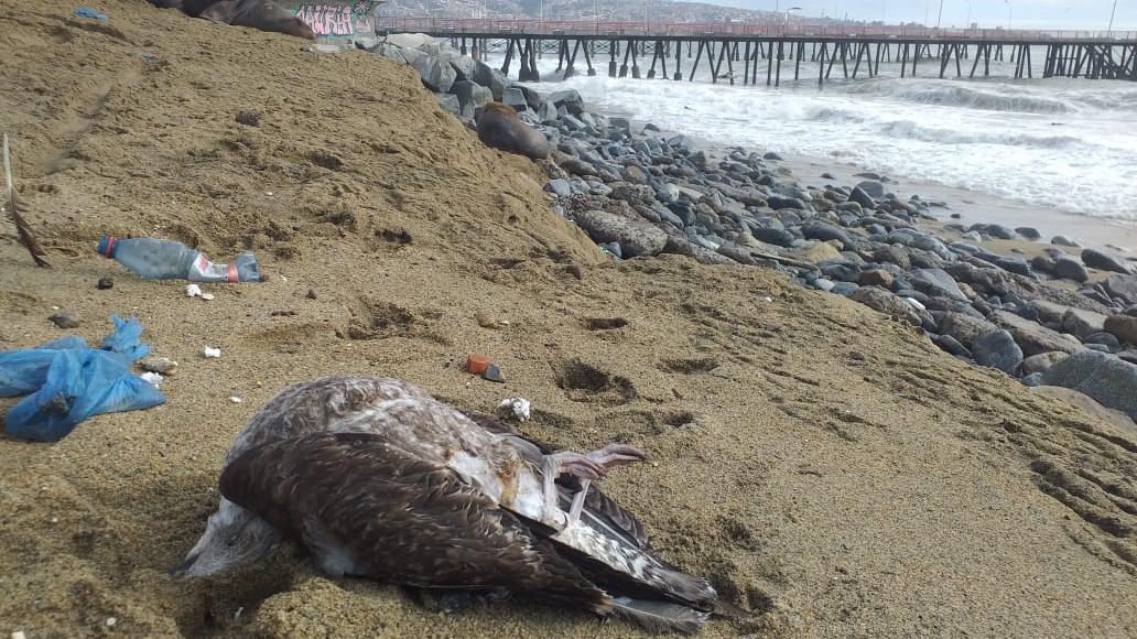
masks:
<svg viewBox="0 0 1137 639"><path fill-rule="evenodd" d="M314 433L259 446L225 467L221 491L302 540L325 567L612 609L603 590L513 514L449 468L373 433Z"/></svg>

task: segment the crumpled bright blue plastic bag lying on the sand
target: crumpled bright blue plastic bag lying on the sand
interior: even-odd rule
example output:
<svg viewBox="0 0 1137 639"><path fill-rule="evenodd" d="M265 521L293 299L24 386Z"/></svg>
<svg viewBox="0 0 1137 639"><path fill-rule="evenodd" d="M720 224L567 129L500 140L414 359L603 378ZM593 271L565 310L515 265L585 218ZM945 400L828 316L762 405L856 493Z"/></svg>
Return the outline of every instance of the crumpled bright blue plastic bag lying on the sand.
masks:
<svg viewBox="0 0 1137 639"><path fill-rule="evenodd" d="M56 441L93 415L138 410L166 400L158 389L131 374L131 362L149 352L139 340L142 326L111 317L115 331L102 348L68 337L39 348L0 352L0 391L35 391L11 407L9 434Z"/></svg>

